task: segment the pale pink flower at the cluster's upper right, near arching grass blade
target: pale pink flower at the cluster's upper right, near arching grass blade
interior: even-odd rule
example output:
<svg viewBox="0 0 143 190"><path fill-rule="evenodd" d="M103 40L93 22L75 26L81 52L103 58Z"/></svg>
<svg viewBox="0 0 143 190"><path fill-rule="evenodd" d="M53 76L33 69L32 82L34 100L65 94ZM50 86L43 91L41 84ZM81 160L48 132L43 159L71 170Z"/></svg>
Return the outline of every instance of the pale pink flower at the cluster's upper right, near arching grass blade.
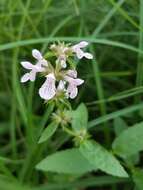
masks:
<svg viewBox="0 0 143 190"><path fill-rule="evenodd" d="M88 42L82 41L74 46L72 46L72 51L76 53L78 59L82 59L83 57L87 59L93 59L93 55L88 52L84 52L82 48L85 48L88 45Z"/></svg>

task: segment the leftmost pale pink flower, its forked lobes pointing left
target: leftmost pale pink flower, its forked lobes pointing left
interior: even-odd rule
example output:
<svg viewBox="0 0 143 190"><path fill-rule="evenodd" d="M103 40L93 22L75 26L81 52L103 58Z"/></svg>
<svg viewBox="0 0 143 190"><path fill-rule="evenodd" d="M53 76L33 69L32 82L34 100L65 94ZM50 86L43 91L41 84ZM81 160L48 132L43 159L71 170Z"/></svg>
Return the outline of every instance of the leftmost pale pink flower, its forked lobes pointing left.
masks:
<svg viewBox="0 0 143 190"><path fill-rule="evenodd" d="M27 82L28 80L30 81L34 81L36 78L36 73L38 72L43 72L45 69L42 68L39 64L33 65L32 63L28 62L28 61L23 61L21 62L21 65L28 70L31 70L28 73L25 73L22 77L21 77L21 82Z"/></svg>

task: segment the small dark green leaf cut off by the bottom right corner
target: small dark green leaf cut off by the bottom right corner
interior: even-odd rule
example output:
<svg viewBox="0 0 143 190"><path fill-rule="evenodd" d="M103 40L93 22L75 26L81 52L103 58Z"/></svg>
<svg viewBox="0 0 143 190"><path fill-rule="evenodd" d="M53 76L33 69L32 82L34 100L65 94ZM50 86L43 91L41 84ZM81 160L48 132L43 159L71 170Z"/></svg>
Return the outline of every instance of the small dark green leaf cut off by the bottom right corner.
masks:
<svg viewBox="0 0 143 190"><path fill-rule="evenodd" d="M143 190L143 170L133 169L132 171L133 181L137 186L138 190Z"/></svg>

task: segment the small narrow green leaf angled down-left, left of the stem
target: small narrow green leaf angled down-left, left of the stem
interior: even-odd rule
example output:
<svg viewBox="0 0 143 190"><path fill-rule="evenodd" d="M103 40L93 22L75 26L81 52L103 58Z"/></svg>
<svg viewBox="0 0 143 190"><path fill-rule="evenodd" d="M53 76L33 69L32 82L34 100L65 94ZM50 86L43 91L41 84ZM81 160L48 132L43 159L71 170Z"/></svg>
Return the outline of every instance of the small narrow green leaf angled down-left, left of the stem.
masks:
<svg viewBox="0 0 143 190"><path fill-rule="evenodd" d="M58 124L55 122L50 123L50 125L48 125L48 127L46 127L38 141L38 143L43 143L46 140L48 140L56 131L58 127Z"/></svg>

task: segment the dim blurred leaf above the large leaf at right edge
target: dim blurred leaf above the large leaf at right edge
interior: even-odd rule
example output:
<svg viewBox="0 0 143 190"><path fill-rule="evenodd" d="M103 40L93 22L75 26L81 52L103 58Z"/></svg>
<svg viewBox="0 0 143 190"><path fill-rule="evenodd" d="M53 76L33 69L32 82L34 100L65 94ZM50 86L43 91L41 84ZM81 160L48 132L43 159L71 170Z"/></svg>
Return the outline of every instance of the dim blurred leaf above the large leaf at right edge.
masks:
<svg viewBox="0 0 143 190"><path fill-rule="evenodd" d="M119 136L119 134L121 132L123 132L125 129L128 128L125 121L123 119L121 119L120 117L117 117L117 118L114 119L113 125L114 125L114 130L115 130L116 136Z"/></svg>

